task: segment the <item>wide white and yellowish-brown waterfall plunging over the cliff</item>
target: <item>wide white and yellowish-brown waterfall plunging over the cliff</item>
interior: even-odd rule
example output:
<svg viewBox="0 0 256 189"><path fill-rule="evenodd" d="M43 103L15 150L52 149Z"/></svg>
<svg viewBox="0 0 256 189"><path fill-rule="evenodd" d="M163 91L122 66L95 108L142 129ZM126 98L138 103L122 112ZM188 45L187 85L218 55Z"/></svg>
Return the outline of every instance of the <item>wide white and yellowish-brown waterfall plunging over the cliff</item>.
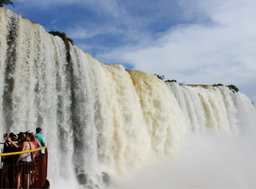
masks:
<svg viewBox="0 0 256 189"><path fill-rule="evenodd" d="M186 86L93 59L0 8L0 133L43 129L52 188L106 187L153 159L176 157L185 135L239 135L256 110L228 87Z"/></svg>

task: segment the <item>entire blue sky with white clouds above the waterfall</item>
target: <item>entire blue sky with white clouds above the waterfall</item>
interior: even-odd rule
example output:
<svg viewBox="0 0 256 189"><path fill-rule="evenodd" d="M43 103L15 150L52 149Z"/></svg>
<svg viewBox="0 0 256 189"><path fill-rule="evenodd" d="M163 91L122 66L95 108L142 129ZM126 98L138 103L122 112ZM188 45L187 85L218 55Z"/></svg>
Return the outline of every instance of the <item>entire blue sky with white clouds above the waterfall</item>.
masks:
<svg viewBox="0 0 256 189"><path fill-rule="evenodd" d="M254 0L13 0L106 64L185 84L234 84L256 104Z"/></svg>

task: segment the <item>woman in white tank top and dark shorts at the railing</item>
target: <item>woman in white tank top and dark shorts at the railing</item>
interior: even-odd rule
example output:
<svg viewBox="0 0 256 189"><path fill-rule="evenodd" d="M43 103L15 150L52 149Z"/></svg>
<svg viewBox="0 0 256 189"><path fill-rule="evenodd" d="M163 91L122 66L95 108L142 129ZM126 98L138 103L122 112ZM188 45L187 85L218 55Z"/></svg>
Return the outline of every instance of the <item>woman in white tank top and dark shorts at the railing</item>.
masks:
<svg viewBox="0 0 256 189"><path fill-rule="evenodd" d="M22 137L22 148L21 151L28 151L28 150L34 150L35 146L32 142L30 142L30 138L33 134L31 133L23 133ZM27 179L27 188L29 188L30 184L30 171L31 171L31 161L34 159L34 152L31 153L24 153L20 154L17 160L17 164L19 164L19 171L18 171L18 188L21 188L20 186L20 178L21 174L25 174L25 179ZM27 168L27 169L26 169Z"/></svg>

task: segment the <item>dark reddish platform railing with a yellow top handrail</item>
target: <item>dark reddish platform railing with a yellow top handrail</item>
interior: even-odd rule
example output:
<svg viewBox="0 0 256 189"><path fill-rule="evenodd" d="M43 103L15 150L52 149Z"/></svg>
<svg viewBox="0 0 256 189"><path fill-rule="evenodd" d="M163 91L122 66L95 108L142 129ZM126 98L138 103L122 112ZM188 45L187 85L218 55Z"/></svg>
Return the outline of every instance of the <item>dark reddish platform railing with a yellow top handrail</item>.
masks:
<svg viewBox="0 0 256 189"><path fill-rule="evenodd" d="M42 153L42 150L44 153ZM38 151L38 159L31 162L17 164L19 154ZM47 147L29 151L19 151L0 154L2 159L10 158L7 166L0 166L0 189L4 188L33 188L40 189L46 183L47 178Z"/></svg>

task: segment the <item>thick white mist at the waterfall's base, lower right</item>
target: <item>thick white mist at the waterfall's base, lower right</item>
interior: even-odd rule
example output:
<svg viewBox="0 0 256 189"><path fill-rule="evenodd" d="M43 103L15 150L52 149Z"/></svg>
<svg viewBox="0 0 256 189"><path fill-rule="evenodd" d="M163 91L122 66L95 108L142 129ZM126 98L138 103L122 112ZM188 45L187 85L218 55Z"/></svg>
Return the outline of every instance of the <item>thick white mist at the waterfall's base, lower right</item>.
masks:
<svg viewBox="0 0 256 189"><path fill-rule="evenodd" d="M116 178L114 188L255 188L255 143L255 132L191 133L178 157Z"/></svg>

